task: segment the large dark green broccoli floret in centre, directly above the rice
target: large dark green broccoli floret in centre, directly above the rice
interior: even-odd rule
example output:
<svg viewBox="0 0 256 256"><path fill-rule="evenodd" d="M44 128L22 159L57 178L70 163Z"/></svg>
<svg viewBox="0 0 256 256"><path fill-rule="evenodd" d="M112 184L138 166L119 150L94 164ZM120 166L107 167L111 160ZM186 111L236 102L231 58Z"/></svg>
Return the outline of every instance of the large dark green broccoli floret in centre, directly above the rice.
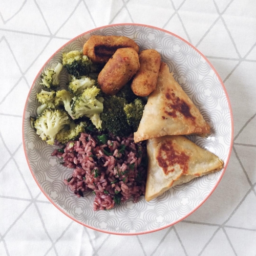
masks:
<svg viewBox="0 0 256 256"><path fill-rule="evenodd" d="M115 95L104 100L103 113L100 114L102 130L106 130L115 136L128 136L132 132L123 110L126 103L124 98Z"/></svg>

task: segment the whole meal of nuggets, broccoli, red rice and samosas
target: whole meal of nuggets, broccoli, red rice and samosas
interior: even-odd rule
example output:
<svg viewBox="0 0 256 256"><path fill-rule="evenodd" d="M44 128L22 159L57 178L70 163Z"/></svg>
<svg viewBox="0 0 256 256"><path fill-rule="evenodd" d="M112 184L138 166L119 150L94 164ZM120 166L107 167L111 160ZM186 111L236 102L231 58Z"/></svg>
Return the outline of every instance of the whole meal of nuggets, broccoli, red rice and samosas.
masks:
<svg viewBox="0 0 256 256"><path fill-rule="evenodd" d="M81 51L64 52L40 84L31 125L72 168L64 180L70 190L95 195L94 210L142 195L150 201L223 167L183 136L205 136L210 126L160 54L139 51L130 38L91 36Z"/></svg>

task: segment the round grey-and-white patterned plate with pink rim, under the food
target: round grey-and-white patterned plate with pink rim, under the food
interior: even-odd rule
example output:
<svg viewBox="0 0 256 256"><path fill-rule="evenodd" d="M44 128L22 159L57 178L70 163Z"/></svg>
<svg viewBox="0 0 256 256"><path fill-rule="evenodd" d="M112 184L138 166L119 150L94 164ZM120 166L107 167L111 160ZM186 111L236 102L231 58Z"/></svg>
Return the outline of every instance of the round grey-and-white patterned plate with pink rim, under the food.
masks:
<svg viewBox="0 0 256 256"><path fill-rule="evenodd" d="M189 136L199 146L220 157L225 164L221 172L203 176L176 186L150 202L141 197L110 211L93 211L93 195L77 198L63 183L72 169L51 157L54 146L39 139L30 126L35 116L36 93L42 70L61 61L62 52L81 50L91 35L123 35L137 42L140 50L153 48L161 53L175 79L194 101L211 126L207 138ZM61 80L61 83L65 83ZM220 182L232 148L233 123L224 84L210 62L187 41L168 31L137 24L110 25L86 32L61 47L42 67L29 92L23 117L23 144L31 173L47 198L64 214L78 223L113 234L142 234L171 226L186 218L210 196Z"/></svg>

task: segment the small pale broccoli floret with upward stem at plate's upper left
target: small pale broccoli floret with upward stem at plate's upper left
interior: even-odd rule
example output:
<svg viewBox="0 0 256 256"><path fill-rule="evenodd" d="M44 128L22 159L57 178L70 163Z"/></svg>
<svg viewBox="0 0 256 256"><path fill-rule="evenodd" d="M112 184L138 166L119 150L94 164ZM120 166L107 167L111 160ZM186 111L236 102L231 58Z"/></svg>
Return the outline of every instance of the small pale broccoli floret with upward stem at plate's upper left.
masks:
<svg viewBox="0 0 256 256"><path fill-rule="evenodd" d="M40 84L44 85L49 89L54 89L59 85L59 73L61 70L61 63L58 63L54 69L47 69L45 73L41 75L42 82Z"/></svg>

